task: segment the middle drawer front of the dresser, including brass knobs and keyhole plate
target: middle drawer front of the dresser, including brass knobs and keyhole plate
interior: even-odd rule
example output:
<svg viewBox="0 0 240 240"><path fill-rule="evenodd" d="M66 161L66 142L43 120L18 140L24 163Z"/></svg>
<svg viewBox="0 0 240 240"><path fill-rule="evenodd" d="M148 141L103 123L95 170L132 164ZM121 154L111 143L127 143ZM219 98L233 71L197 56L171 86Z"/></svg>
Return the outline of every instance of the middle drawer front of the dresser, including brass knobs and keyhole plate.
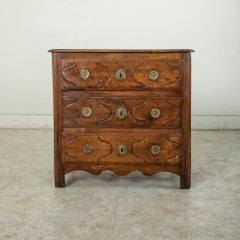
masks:
<svg viewBox="0 0 240 240"><path fill-rule="evenodd" d="M63 97L64 127L179 128L177 97Z"/></svg>

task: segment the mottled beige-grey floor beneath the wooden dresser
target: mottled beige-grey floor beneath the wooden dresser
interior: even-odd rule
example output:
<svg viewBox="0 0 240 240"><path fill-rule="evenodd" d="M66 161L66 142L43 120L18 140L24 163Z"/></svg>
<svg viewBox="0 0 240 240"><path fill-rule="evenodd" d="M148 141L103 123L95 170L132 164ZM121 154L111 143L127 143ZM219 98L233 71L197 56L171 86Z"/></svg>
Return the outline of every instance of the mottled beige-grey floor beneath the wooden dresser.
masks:
<svg viewBox="0 0 240 240"><path fill-rule="evenodd" d="M0 130L0 239L214 240L240 236L240 131L192 132L179 177L74 172L53 182L52 130Z"/></svg>

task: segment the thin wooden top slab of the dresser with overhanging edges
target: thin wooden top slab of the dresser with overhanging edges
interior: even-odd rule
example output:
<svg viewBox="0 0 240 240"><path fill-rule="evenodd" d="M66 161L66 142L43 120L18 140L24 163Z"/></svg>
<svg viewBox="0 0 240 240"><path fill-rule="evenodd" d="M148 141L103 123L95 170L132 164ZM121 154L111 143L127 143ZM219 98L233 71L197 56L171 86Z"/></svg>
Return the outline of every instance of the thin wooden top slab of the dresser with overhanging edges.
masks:
<svg viewBox="0 0 240 240"><path fill-rule="evenodd" d="M192 49L51 49L52 53L189 53Z"/></svg>

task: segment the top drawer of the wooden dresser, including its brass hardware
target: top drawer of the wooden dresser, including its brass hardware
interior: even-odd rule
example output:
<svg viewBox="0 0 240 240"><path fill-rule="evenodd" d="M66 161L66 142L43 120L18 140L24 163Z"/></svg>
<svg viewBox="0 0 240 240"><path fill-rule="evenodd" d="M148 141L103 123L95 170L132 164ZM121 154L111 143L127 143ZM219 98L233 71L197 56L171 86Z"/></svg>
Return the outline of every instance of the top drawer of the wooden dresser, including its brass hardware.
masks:
<svg viewBox="0 0 240 240"><path fill-rule="evenodd" d="M63 53L61 89L179 90L180 53Z"/></svg>

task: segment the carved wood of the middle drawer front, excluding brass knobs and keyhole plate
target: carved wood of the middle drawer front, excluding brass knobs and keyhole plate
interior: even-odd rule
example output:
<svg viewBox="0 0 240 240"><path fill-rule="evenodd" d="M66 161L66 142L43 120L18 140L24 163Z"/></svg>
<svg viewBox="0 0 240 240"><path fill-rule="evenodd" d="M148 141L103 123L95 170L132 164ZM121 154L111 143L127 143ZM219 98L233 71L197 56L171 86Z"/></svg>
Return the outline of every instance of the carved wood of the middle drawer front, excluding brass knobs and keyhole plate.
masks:
<svg viewBox="0 0 240 240"><path fill-rule="evenodd" d="M175 101L175 102L174 102ZM137 103L136 103L137 102ZM90 119L86 119L81 114L81 108L85 103L92 104L94 107L93 114ZM127 119L123 119L121 125L136 126L179 126L181 121L181 99L169 100L158 98L144 98L144 99L125 99L121 105L127 105ZM117 126L118 119L114 117L117 106L120 105L116 98L105 101L104 99L64 99L63 123L66 126ZM162 107L161 107L162 106ZM162 114L158 119L151 120L149 118L152 107L161 109Z"/></svg>

